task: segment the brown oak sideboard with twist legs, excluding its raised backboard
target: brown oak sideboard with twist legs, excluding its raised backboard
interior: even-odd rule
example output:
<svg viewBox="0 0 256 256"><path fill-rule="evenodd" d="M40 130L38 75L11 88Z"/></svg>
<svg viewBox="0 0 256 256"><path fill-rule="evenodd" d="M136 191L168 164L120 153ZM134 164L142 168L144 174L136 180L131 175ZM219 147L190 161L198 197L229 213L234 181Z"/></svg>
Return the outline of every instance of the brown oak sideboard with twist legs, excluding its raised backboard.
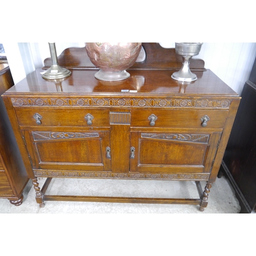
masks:
<svg viewBox="0 0 256 256"><path fill-rule="evenodd" d="M47 200L207 206L240 97L203 68L184 87L168 68L136 65L121 82L99 81L90 68L57 82L37 70L3 95L40 206ZM48 178L42 189L37 177ZM199 198L50 196L52 178L193 180ZM204 190L200 181L207 181Z"/></svg>

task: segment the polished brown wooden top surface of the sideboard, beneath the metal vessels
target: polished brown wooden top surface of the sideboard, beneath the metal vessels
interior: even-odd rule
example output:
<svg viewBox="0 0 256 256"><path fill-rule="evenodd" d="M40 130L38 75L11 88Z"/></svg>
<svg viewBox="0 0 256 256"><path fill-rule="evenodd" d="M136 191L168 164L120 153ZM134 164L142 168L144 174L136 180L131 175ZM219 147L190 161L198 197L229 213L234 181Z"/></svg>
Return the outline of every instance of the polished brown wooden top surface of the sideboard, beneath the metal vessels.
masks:
<svg viewBox="0 0 256 256"><path fill-rule="evenodd" d="M72 70L72 75L58 80L41 77L42 69L29 74L9 89L5 95L67 94L67 95L133 95L133 96L239 96L210 70L194 71L194 82L172 79L170 70L129 70L131 77L122 81L100 81L94 77L97 70ZM133 90L137 92L122 92Z"/></svg>

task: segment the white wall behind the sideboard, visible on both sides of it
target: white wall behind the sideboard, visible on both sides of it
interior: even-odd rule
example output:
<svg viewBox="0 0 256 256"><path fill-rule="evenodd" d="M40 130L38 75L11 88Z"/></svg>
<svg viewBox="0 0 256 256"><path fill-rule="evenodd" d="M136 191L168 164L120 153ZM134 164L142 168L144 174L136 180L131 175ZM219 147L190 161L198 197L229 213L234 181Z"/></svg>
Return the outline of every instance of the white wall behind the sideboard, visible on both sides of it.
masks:
<svg viewBox="0 0 256 256"><path fill-rule="evenodd" d="M44 59L50 57L48 42L5 43L7 59L15 83L37 68L44 66ZM56 42L57 55L69 47L84 47L84 42ZM173 48L172 42L160 43L162 47ZM255 42L205 42L198 56L205 61L205 68L218 75L234 91L241 94L245 81L256 57Z"/></svg>

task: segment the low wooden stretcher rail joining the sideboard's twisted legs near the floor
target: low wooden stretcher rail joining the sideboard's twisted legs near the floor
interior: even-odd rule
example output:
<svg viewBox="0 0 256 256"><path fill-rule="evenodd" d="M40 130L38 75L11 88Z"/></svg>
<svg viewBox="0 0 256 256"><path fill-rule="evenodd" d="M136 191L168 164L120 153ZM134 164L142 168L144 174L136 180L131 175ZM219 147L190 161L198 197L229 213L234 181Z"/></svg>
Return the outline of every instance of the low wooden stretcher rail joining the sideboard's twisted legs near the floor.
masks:
<svg viewBox="0 0 256 256"><path fill-rule="evenodd" d="M52 178L47 178L41 188L43 201L79 201L79 202L109 202L109 203L146 203L146 204L202 204L203 190L199 181L196 181L199 199L186 198L139 198L139 197L100 197L100 196L61 196L46 195ZM44 203L40 205L44 207ZM206 207L206 206L205 206ZM201 209L202 210L202 209Z"/></svg>

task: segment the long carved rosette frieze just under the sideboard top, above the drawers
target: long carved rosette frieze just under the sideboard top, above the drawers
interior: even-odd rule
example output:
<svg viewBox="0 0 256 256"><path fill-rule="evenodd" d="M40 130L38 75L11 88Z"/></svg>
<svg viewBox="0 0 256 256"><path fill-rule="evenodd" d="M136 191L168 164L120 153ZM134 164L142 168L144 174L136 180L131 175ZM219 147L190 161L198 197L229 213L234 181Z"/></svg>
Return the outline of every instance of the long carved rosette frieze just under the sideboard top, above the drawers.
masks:
<svg viewBox="0 0 256 256"><path fill-rule="evenodd" d="M105 108L228 109L228 99L215 98L11 98L13 106L79 106Z"/></svg>

